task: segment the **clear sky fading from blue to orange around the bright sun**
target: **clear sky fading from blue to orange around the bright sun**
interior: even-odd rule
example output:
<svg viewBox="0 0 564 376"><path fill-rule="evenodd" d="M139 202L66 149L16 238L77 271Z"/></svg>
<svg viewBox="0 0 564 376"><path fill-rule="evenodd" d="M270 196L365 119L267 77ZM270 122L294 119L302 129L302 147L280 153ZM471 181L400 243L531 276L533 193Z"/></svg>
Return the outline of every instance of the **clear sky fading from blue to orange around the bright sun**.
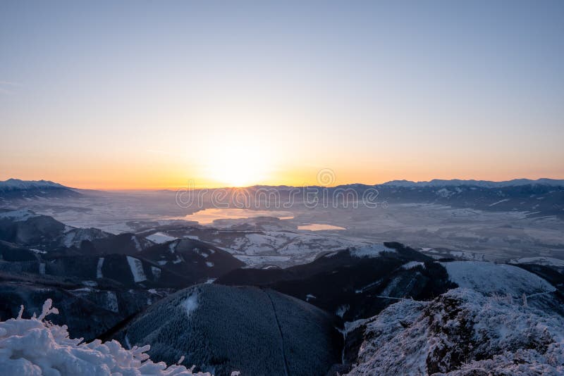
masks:
<svg viewBox="0 0 564 376"><path fill-rule="evenodd" d="M1 1L0 180L564 178L564 1Z"/></svg>

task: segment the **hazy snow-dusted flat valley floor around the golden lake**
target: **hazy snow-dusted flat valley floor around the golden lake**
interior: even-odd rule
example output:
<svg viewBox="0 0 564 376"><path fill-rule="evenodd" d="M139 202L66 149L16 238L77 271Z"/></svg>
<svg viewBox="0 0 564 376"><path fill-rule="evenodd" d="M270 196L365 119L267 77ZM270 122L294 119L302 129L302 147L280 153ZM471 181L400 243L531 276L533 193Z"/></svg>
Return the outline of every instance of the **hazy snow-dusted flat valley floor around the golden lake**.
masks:
<svg viewBox="0 0 564 376"><path fill-rule="evenodd" d="M505 202L492 208L498 208ZM112 192L80 199L37 199L27 201L26 205L36 213L52 215L66 225L96 227L113 233L139 232L173 224L177 227L179 224L187 228L197 227L196 222L169 220L185 218L185 215L197 211L176 205L174 192ZM291 211L292 219L266 224L256 217L224 218L219 223L200 226L204 227L203 236L189 231L174 236L197 236L204 242L219 239L217 246L247 255L299 256L298 253L302 252L398 241L415 248L460 252L461 258L474 260L508 261L532 255L564 260L563 221L554 217L532 218L521 211L480 211L425 203L390 203L386 208L307 209L295 206L288 211ZM281 216L276 211L257 211L256 214L269 213L273 217ZM321 223L345 230L299 230L308 228L302 226ZM239 239L205 236L205 232L214 232L214 227L218 230L256 229L270 233L262 237L241 236ZM163 231L166 232L158 230ZM301 239L292 232L299 234ZM154 240L164 242L168 237L157 236Z"/></svg>

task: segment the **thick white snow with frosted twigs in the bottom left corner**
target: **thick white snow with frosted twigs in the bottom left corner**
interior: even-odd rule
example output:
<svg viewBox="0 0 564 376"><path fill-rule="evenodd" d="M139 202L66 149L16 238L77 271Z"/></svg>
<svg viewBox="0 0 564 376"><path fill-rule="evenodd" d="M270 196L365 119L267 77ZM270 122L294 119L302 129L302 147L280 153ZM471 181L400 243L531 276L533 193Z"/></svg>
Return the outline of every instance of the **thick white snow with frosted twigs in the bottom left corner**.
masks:
<svg viewBox="0 0 564 376"><path fill-rule="evenodd" d="M23 306L22 306L23 311ZM21 311L20 311L21 312ZM90 343L71 339L66 326L52 325L45 316L59 313L48 299L39 318L0 321L0 373L26 376L178 375L194 373L182 365L154 363L150 346L124 349L118 341Z"/></svg>

